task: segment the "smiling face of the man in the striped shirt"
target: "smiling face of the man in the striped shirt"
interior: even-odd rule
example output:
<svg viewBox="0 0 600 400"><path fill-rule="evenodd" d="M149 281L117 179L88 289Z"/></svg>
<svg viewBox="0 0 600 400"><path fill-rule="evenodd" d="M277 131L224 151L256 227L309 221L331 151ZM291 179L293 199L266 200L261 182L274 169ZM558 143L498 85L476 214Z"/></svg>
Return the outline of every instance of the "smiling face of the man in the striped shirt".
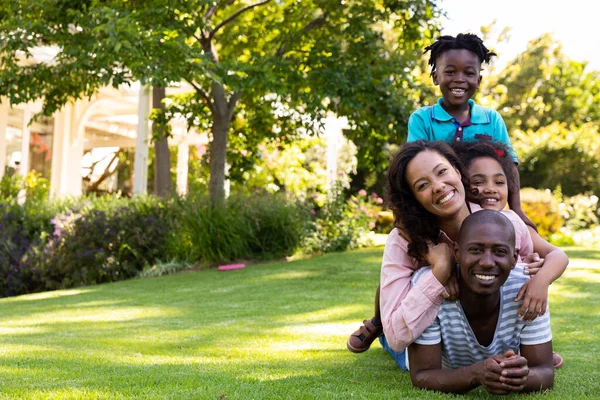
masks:
<svg viewBox="0 0 600 400"><path fill-rule="evenodd" d="M482 296L498 292L517 262L509 228L493 222L474 224L463 232L455 246L455 255L460 279Z"/></svg>

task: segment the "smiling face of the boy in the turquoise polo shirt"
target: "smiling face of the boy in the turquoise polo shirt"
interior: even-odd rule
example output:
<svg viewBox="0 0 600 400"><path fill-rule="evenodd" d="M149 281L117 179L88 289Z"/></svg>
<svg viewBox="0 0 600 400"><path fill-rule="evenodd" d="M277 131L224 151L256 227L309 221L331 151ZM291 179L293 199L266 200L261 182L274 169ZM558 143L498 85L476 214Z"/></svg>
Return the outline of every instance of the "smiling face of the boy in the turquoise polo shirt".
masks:
<svg viewBox="0 0 600 400"><path fill-rule="evenodd" d="M433 83L440 87L444 105L461 106L475 95L481 82L481 62L466 49L443 52L436 60Z"/></svg>

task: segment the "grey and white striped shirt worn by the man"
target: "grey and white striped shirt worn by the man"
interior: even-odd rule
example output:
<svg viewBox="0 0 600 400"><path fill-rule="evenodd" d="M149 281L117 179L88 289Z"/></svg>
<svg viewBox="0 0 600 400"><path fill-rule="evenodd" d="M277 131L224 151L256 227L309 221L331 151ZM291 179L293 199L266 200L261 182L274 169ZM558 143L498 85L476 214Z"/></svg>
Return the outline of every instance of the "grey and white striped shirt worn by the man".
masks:
<svg viewBox="0 0 600 400"><path fill-rule="evenodd" d="M429 267L423 267L413 276L413 284ZM477 341L469 321L460 305L460 301L444 301L440 306L437 318L423 334L415 340L422 345L442 343L442 367L455 369L473 365L486 358L503 354L512 349L518 354L523 345L536 345L552 340L550 331L550 311L538 316L531 322L524 322L517 312L522 301L514 299L519 289L527 281L521 266L516 266L500 289L500 312L494 332L494 339L489 346L482 346Z"/></svg>

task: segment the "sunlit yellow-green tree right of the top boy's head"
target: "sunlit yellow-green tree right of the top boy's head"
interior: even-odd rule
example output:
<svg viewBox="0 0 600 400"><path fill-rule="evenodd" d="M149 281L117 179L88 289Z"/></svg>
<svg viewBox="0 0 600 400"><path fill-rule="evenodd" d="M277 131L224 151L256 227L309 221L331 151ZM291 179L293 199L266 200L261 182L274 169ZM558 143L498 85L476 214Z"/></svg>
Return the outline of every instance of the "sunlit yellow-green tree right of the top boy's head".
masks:
<svg viewBox="0 0 600 400"><path fill-rule="evenodd" d="M600 126L600 71L566 57L544 34L529 42L488 85L509 130L537 130L553 122Z"/></svg>

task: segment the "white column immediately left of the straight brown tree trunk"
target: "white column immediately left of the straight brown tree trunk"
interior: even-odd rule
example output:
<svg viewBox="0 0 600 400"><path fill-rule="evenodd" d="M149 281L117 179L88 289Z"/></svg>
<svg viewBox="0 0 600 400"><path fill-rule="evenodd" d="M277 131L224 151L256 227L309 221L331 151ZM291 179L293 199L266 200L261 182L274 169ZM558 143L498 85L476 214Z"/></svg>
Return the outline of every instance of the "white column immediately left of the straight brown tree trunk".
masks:
<svg viewBox="0 0 600 400"><path fill-rule="evenodd" d="M148 191L148 133L150 132L150 90L140 86L137 138L133 161L133 194ZM178 165L179 168L179 165Z"/></svg>

